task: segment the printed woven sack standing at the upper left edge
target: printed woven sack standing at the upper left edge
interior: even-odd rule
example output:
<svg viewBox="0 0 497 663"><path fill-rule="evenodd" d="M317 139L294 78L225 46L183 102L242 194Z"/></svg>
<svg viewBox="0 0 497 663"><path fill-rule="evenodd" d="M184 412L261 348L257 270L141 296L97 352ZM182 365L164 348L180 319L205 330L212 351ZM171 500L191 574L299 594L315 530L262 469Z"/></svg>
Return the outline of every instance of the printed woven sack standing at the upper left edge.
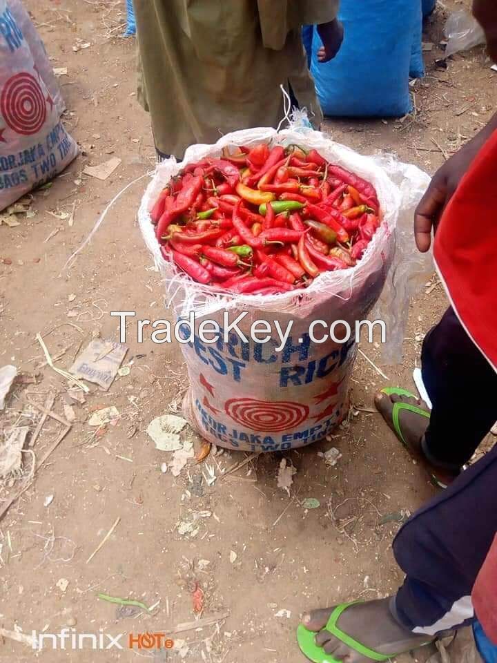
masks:
<svg viewBox="0 0 497 663"><path fill-rule="evenodd" d="M19 0L0 0L0 210L77 155L50 61Z"/></svg>

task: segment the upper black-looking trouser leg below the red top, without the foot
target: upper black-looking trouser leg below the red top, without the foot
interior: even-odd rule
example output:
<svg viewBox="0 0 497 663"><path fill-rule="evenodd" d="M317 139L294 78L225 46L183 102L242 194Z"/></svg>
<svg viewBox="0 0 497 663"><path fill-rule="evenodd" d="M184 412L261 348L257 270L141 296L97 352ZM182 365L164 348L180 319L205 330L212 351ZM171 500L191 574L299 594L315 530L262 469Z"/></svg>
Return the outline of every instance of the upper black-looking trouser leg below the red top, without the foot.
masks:
<svg viewBox="0 0 497 663"><path fill-rule="evenodd" d="M432 405L422 449L434 465L461 468L497 420L497 373L451 308L428 332L421 365Z"/></svg>

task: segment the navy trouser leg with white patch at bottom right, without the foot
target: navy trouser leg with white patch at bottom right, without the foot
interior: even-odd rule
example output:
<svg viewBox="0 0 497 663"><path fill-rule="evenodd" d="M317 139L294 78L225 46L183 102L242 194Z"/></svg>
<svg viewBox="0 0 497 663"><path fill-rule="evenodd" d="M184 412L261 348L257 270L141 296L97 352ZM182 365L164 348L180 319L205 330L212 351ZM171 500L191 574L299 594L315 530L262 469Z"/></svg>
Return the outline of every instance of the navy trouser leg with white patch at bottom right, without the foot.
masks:
<svg viewBox="0 0 497 663"><path fill-rule="evenodd" d="M497 532L497 447L418 510L393 541L406 579L396 616L435 635L474 619L471 590Z"/></svg>

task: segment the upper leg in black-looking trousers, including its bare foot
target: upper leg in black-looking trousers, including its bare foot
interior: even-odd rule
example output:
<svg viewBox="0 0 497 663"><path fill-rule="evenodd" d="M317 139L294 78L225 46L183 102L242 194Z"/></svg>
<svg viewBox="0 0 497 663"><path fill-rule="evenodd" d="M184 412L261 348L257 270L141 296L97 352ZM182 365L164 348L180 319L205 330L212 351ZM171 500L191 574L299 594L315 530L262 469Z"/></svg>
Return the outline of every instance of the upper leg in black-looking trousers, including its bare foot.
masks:
<svg viewBox="0 0 497 663"><path fill-rule="evenodd" d="M448 309L423 343L422 376L433 406L430 416L405 408L399 410L398 426L409 451L428 466L439 485L445 485L497 420L497 373ZM478 402L469 394L478 394ZM396 403L430 412L417 398L399 394L379 392L375 403L397 435Z"/></svg>

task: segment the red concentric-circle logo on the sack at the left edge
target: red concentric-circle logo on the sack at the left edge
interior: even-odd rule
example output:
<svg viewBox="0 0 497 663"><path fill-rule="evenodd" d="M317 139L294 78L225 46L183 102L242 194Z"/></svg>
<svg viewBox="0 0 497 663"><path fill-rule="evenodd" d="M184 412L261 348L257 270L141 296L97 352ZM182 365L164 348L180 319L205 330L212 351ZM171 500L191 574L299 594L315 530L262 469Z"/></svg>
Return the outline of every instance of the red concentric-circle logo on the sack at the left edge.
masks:
<svg viewBox="0 0 497 663"><path fill-rule="evenodd" d="M1 93L0 113L12 131L37 133L46 120L46 99L37 79L26 72L10 77Z"/></svg>

